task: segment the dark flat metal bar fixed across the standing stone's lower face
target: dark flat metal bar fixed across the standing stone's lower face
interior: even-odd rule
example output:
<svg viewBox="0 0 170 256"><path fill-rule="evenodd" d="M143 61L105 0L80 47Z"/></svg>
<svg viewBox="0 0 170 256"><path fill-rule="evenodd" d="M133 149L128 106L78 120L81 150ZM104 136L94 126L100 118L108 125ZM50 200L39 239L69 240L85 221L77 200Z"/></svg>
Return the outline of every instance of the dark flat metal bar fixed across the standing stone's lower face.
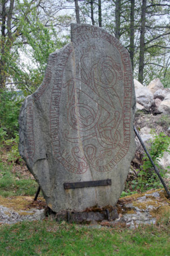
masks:
<svg viewBox="0 0 170 256"><path fill-rule="evenodd" d="M111 179L63 183L64 189L107 186L107 185L112 185Z"/></svg>

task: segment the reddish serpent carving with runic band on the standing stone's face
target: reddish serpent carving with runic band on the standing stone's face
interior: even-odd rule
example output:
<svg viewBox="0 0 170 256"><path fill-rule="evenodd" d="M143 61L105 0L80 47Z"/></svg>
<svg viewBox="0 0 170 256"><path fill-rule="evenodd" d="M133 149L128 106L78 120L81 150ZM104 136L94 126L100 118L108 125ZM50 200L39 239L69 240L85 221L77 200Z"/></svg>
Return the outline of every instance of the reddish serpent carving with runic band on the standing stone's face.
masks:
<svg viewBox="0 0 170 256"><path fill-rule="evenodd" d="M99 52L99 45L94 43L97 38L103 38L101 43L107 43L110 48L116 47L120 60L107 51ZM79 53L79 63L73 67L75 72L70 67L74 52L65 48L62 64L57 69L58 80L53 86L50 130L54 156L76 174L83 174L88 168L112 171L129 150L132 84L129 55L117 41L104 38L97 31L84 31L81 42L78 38L75 44L84 43L84 47ZM120 94L117 89L122 83L125 86ZM62 94L67 127L59 132Z"/></svg>

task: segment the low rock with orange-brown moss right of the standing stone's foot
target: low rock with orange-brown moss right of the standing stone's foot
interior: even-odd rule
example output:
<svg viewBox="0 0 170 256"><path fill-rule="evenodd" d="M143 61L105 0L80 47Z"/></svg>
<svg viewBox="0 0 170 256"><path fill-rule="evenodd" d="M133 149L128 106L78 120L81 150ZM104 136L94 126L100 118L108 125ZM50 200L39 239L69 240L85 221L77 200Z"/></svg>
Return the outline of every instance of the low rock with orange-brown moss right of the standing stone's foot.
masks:
<svg viewBox="0 0 170 256"><path fill-rule="evenodd" d="M118 222L125 223L130 228L140 224L155 224L156 219L170 213L170 203L166 196L165 191L159 189L142 193L142 195L122 197L117 204L120 218L109 222L109 226L114 226Z"/></svg>

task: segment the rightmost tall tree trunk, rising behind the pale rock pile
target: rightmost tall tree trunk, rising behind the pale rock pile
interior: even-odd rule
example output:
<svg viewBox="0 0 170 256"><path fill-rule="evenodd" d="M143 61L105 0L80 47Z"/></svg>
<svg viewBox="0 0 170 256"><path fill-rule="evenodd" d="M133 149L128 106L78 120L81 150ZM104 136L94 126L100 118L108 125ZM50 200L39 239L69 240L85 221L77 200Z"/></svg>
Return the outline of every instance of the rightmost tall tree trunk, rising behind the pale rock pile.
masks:
<svg viewBox="0 0 170 256"><path fill-rule="evenodd" d="M145 54L146 1L147 0L142 0L142 13L141 13L141 35L140 35L139 73L138 73L138 81L141 82L141 84L143 84L143 69L144 69L144 54Z"/></svg>

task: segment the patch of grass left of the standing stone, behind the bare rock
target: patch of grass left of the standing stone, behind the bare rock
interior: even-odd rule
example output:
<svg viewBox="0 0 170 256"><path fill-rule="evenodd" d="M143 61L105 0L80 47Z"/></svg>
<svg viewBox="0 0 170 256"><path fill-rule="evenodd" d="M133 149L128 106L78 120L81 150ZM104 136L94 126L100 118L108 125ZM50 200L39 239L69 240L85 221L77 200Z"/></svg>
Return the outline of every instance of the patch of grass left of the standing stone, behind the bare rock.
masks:
<svg viewBox="0 0 170 256"><path fill-rule="evenodd" d="M8 196L33 196L38 188L35 180L24 179L19 174L11 172L11 166L0 163L0 195Z"/></svg>

